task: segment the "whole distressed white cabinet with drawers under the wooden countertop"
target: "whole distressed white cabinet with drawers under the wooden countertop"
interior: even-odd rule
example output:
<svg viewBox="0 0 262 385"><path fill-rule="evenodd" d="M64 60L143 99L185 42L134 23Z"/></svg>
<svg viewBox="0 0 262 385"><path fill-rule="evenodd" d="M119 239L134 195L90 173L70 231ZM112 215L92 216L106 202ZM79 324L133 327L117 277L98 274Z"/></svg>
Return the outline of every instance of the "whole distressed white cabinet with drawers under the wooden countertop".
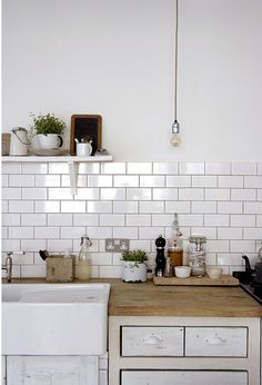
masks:
<svg viewBox="0 0 262 385"><path fill-rule="evenodd" d="M260 318L109 317L109 385L260 385Z"/></svg>

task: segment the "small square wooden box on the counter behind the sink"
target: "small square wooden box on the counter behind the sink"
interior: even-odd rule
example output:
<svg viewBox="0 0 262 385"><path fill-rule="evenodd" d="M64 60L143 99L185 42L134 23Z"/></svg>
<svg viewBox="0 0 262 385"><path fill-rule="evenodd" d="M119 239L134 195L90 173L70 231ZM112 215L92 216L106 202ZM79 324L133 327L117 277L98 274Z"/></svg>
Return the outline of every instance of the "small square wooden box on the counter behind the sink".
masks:
<svg viewBox="0 0 262 385"><path fill-rule="evenodd" d="M49 257L47 264L47 282L49 283L67 283L73 282L75 257L63 258L62 256Z"/></svg>

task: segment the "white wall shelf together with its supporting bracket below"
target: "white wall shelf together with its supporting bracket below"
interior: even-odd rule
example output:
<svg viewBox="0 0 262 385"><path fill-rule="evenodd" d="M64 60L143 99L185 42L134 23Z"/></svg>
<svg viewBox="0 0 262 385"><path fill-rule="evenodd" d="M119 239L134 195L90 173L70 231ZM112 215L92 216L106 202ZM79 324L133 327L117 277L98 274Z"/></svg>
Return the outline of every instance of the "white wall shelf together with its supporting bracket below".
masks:
<svg viewBox="0 0 262 385"><path fill-rule="evenodd" d="M112 161L111 155L89 156L89 157L77 157L77 156L26 156L26 157L2 157L2 162L67 162L70 176L71 192L72 195L78 194L78 166L80 162L104 162Z"/></svg>

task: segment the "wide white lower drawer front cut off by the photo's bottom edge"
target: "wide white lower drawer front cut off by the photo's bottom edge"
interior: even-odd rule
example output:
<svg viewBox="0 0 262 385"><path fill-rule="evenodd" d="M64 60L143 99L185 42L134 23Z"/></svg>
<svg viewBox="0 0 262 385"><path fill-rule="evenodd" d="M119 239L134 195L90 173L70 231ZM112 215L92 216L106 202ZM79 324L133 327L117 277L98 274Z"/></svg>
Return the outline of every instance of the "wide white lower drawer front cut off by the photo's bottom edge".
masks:
<svg viewBox="0 0 262 385"><path fill-rule="evenodd" d="M246 372L122 371L121 385L248 385Z"/></svg>

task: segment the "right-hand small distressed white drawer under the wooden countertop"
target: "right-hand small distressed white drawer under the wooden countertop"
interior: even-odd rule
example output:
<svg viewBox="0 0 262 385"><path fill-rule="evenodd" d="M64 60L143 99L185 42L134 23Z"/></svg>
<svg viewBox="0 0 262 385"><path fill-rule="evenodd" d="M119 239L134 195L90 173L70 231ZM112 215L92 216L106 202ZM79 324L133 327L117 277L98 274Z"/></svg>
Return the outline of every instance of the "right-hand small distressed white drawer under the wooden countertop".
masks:
<svg viewBox="0 0 262 385"><path fill-rule="evenodd" d="M246 357L246 327L187 327L185 356Z"/></svg>

